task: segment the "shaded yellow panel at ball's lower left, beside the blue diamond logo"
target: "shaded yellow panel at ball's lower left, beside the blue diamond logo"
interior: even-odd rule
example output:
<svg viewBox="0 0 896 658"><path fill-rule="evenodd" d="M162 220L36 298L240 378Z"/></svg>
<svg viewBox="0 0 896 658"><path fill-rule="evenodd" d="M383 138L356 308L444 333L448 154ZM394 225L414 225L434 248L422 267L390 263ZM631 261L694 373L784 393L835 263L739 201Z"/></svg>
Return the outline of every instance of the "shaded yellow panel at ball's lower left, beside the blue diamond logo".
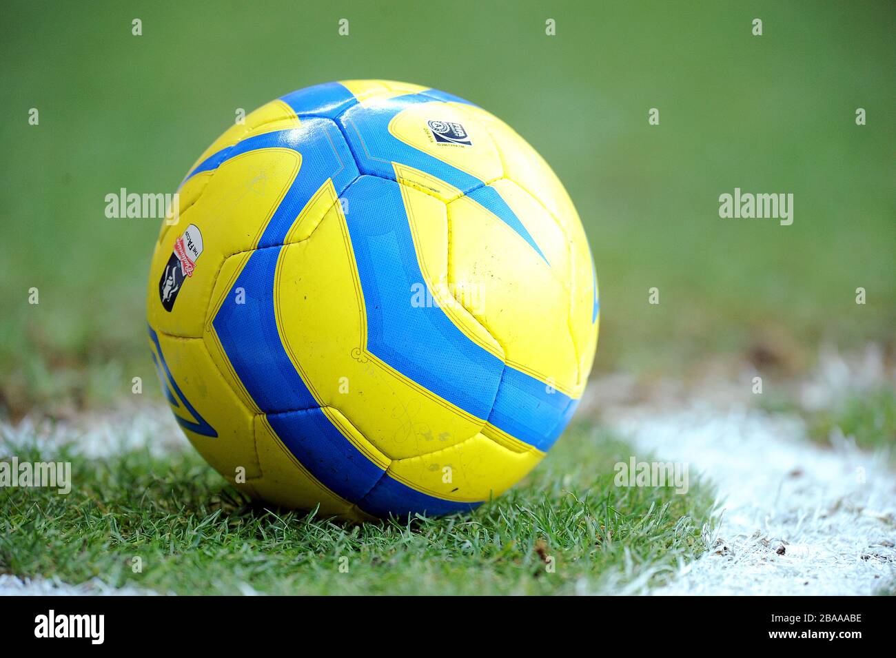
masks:
<svg viewBox="0 0 896 658"><path fill-rule="evenodd" d="M252 414L234 395L227 382L211 362L202 340L178 338L159 333L159 345L168 369L186 400L197 414L218 433L203 436L184 429L202 457L230 483L237 467L246 469L246 479L258 477L261 470L255 455ZM194 423L182 403L172 407L176 416Z"/></svg>

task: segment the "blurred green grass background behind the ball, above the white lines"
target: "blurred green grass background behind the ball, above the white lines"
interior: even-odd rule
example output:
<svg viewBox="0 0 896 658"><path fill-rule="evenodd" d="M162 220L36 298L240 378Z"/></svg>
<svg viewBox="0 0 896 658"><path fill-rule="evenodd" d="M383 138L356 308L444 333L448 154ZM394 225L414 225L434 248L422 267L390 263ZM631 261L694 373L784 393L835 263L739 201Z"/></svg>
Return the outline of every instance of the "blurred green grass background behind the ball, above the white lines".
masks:
<svg viewBox="0 0 896 658"><path fill-rule="evenodd" d="M0 16L7 413L154 376L143 297L159 221L106 218L106 194L174 192L237 107L348 78L469 98L547 158L597 262L597 372L681 372L770 340L794 363L821 340L892 349L891 2L6 0ZM793 225L719 218L735 187L792 192Z"/></svg>

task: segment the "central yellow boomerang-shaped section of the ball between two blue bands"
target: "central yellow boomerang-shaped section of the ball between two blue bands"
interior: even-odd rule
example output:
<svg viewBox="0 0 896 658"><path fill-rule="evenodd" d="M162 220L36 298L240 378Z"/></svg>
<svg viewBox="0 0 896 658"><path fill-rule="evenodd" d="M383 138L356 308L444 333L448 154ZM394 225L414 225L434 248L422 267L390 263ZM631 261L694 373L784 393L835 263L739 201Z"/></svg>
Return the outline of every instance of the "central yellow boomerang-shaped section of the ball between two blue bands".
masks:
<svg viewBox="0 0 896 658"><path fill-rule="evenodd" d="M314 235L280 252L275 312L292 363L321 406L340 409L388 457L469 439L482 420L366 351L364 299L345 222L333 196Z"/></svg>

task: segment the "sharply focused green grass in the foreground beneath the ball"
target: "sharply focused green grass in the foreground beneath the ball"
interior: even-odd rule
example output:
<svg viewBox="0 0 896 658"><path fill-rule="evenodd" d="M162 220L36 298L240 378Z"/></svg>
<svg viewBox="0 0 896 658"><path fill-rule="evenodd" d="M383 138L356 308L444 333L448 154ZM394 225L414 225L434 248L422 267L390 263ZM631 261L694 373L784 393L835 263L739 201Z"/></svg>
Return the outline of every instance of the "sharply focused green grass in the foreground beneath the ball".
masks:
<svg viewBox="0 0 896 658"><path fill-rule="evenodd" d="M346 525L247 501L193 451L73 462L73 490L0 490L0 571L177 594L571 594L656 585L704 550L712 491L619 488L631 449L573 428L470 515ZM20 459L40 460L37 450ZM638 456L639 459L649 458ZM134 557L142 572L134 573ZM556 570L547 570L552 557ZM348 559L348 573L340 559Z"/></svg>

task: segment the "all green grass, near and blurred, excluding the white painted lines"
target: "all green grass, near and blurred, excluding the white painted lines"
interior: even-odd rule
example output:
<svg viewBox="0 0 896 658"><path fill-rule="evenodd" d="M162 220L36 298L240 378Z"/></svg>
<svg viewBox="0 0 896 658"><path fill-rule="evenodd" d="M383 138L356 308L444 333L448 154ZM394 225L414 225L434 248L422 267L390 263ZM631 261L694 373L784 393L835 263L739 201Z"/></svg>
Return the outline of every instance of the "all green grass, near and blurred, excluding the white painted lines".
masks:
<svg viewBox="0 0 896 658"><path fill-rule="evenodd" d="M460 36L410 0L343 3L339 14L286 0L4 9L0 418L112 404L135 376L158 399L143 299L159 221L105 218L105 195L172 192L235 108L346 78L458 93L547 158L597 264L599 372L679 376L768 337L788 363L807 363L823 338L893 346L892 5L522 0L509 12L458 0ZM261 20L246 21L255 13ZM342 15L349 38L336 33ZM755 16L761 38L750 34ZM39 125L26 120L31 107ZM650 107L658 126L647 124ZM866 126L854 123L856 107ZM720 219L719 194L736 186L793 192L794 225ZM651 286L659 306L647 303ZM28 303L32 287L39 304ZM809 420L817 440L833 427L860 445L892 440L892 391ZM178 593L655 584L702 550L711 495L614 487L611 466L629 451L580 427L469 517L367 526L254 506L192 452L72 456L68 496L0 490L0 569Z"/></svg>

